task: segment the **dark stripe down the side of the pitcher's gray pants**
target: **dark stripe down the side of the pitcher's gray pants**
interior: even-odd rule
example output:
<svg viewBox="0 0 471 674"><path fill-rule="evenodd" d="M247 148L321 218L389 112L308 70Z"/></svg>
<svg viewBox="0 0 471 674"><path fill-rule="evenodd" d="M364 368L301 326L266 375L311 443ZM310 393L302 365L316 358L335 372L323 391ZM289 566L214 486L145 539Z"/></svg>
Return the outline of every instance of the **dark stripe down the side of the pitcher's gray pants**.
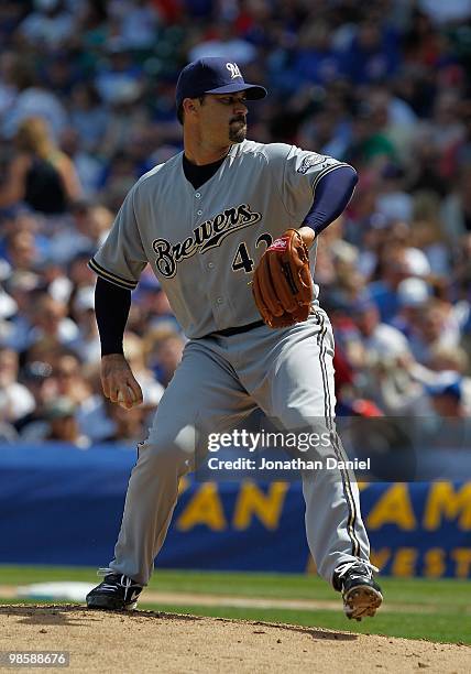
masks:
<svg viewBox="0 0 471 674"><path fill-rule="evenodd" d="M325 414L326 414L326 420L327 420L327 424L328 424L328 428L331 432L331 437L332 437L332 446L333 446L333 450L336 453L336 457L338 461L342 461L346 460L342 450L340 449L340 446L338 444L337 441L337 433L333 428L333 416L332 416L332 409L331 409L331 398L330 398L330 390L329 390L329 378L328 378L328 373L327 373L327 365L325 361L325 355L327 352L327 347L325 345L325 337L327 334L327 325L325 324L325 319L324 316L319 317L319 314L316 314L316 318L318 322L318 325L320 327L320 333L317 337L317 344L319 345L320 348L320 354L319 354L319 361L320 361L320 371L322 374L322 387L324 387L324 395L325 395L325 400L326 400L326 407L325 407ZM352 555L354 557L360 556L360 542L357 539L357 534L355 534L355 522L357 522L357 506L354 502L354 498L353 498L353 493L352 493L352 489L351 489L351 483L350 483L350 478L349 478L349 474L344 468L340 468L340 475L342 478L342 486L343 486L343 496L346 497L346 501L347 501L347 506L349 509L349 518L347 521L347 532L349 534L349 537L351 540L352 543Z"/></svg>

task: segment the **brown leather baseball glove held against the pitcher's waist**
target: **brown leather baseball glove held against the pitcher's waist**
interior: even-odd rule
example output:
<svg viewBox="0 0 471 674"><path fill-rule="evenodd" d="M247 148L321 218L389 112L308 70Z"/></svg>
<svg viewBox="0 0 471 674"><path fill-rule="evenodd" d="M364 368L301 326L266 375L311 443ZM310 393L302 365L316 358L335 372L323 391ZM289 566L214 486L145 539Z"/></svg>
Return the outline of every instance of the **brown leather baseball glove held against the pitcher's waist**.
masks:
<svg viewBox="0 0 471 674"><path fill-rule="evenodd" d="M296 229L287 229L265 250L252 281L255 304L272 328L306 320L314 300L309 253Z"/></svg>

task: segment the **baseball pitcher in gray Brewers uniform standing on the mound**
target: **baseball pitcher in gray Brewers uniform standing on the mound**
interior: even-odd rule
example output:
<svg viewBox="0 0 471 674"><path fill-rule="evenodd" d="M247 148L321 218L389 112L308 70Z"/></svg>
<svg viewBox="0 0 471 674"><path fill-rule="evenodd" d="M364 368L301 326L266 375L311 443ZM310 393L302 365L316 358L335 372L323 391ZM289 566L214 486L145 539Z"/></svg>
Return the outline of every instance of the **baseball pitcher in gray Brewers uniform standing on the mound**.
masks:
<svg viewBox="0 0 471 674"><path fill-rule="evenodd" d="M146 264L188 343L138 447L114 558L88 607L135 608L164 543L178 480L193 468L198 447L188 428L223 432L256 407L287 430L324 418L332 455L343 456L332 425L333 337L309 249L347 206L357 174L294 145L247 140L247 101L265 95L244 81L237 63L212 57L187 65L176 88L184 151L136 182L89 263L98 274L107 398L128 407L142 401L122 337ZM342 593L346 615L360 620L374 616L382 595L358 487L340 466L302 474L306 532L318 573Z"/></svg>

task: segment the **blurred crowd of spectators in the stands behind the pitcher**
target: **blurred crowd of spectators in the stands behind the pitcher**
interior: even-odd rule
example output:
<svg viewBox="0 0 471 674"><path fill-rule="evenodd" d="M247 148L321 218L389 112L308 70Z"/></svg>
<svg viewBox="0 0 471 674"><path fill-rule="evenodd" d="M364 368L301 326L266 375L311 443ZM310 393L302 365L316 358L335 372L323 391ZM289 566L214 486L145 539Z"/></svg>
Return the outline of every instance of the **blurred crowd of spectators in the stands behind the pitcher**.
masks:
<svg viewBox="0 0 471 674"><path fill-rule="evenodd" d="M87 261L139 176L182 150L179 69L227 55L269 88L249 138L351 163L319 238L338 412L471 414L471 0L2 0L0 437L142 439L185 339L146 270L100 389Z"/></svg>

